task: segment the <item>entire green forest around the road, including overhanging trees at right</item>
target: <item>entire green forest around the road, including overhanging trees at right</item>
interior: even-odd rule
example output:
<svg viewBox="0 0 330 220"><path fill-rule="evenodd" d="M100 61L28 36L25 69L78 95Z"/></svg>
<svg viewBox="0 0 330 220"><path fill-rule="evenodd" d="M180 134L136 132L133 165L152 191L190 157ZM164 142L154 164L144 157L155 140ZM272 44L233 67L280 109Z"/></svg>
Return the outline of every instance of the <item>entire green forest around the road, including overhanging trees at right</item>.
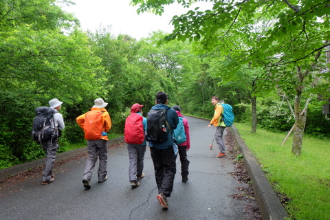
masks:
<svg viewBox="0 0 330 220"><path fill-rule="evenodd" d="M170 3L131 2L159 15ZM61 152L85 142L76 117L96 98L109 102L110 133L122 135L131 105L144 104L146 116L157 91L203 118L218 96L254 133L293 129L298 156L303 135L330 137L329 12L329 1L214 1L174 17L173 33L137 41L111 27L83 32L53 0L1 1L0 168L45 156L32 121L52 98L63 101Z"/></svg>

